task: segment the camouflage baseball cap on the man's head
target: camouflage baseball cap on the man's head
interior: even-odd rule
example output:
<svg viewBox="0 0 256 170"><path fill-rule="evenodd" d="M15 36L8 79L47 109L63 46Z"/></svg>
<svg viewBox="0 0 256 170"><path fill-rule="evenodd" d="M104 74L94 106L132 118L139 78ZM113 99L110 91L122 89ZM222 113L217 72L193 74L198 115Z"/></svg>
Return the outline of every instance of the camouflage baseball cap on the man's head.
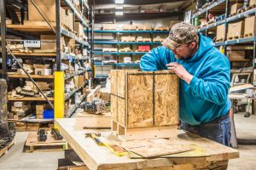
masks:
<svg viewBox="0 0 256 170"><path fill-rule="evenodd" d="M195 26L181 22L172 26L169 37L162 42L162 45L173 50L183 44L191 42L198 42L197 30Z"/></svg>

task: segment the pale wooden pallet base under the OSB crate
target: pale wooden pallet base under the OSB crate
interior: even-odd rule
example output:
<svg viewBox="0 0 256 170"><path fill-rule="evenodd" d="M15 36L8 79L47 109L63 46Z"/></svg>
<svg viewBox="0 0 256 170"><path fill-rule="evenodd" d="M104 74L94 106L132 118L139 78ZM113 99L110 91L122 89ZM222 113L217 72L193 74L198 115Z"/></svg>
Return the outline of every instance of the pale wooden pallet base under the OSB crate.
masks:
<svg viewBox="0 0 256 170"><path fill-rule="evenodd" d="M112 120L111 131L122 141L135 139L160 139L177 137L177 126L127 128Z"/></svg>

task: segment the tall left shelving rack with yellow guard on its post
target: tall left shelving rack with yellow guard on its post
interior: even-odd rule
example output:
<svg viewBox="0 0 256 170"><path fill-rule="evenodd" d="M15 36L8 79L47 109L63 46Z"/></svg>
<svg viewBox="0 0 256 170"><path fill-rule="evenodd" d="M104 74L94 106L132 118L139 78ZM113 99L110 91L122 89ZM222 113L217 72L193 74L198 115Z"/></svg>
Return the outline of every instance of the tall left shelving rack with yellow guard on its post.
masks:
<svg viewBox="0 0 256 170"><path fill-rule="evenodd" d="M30 0L28 0L30 1ZM21 25L6 25L6 8L8 5L15 5L16 7L20 8L20 24ZM79 71L74 74L65 75L64 71L61 71L61 60L73 60L74 62L84 61L87 60L90 62L91 55L90 54L83 54L84 48L90 48L90 44L82 39L80 39L78 36L76 36L72 31L67 31L66 28L61 26L60 21L60 8L65 7L69 8L73 12L73 23L75 21L79 21L82 26L84 26L86 29L86 35L88 37L89 30L91 29L93 25L93 9L89 6L86 0L80 1L80 9L81 12L78 11L77 8L75 8L74 4L70 0L55 0L55 28L50 26L49 21L45 20L49 26L26 26L22 25L23 20L25 19L26 9L27 9L27 3L26 1L20 1L20 0L14 0L7 2L6 0L0 1L0 12L1 12L1 42L2 42L2 77L7 80L7 82L10 82L10 79L14 78L32 78L33 79L43 79L43 80L52 80L55 83L55 94L54 98L31 98L31 97L24 97L21 99L15 99L15 98L9 98L9 101L48 101L49 103L54 102L54 110L55 110L55 118L61 118L64 116L64 102L67 99L73 98L74 94L81 91L84 87L79 87L74 89L72 92L68 94L64 94L64 86L65 81L67 81L70 78L73 78L78 75L84 75L85 71ZM40 12L39 12L40 13ZM43 15L42 15L43 16ZM86 20L85 17L88 19ZM44 16L43 16L44 18ZM43 75L10 75L8 73L8 65L7 60L11 59L9 53L7 52L6 47L6 36L7 34L15 34L17 37L22 37L23 40L32 40L34 37L32 37L30 34L27 34L27 32L36 32L36 31L43 31L43 32L54 32L55 33L55 42L56 42L56 53L52 54L19 54L19 53L13 53L16 58L20 59L52 59L55 62L56 65L56 71L54 72L54 75L49 76L43 76ZM81 53L83 54L82 58L77 58L77 56L73 56L71 54L61 54L61 36L63 37L69 37L73 38L75 40L75 44L80 47ZM91 70L88 70L91 71ZM85 85L85 82L84 82ZM85 95L82 95L80 98L81 102L79 104L73 105L73 107L69 108L69 111L67 111L67 117L73 116L73 112L76 111L76 109L79 107L79 105L82 103L82 101L85 99Z"/></svg>

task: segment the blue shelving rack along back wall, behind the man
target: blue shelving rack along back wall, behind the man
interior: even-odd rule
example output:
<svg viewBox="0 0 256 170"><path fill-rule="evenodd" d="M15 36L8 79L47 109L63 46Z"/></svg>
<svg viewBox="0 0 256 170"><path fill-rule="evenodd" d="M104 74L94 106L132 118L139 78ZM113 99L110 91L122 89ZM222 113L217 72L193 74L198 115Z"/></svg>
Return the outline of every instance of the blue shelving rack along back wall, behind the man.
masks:
<svg viewBox="0 0 256 170"><path fill-rule="evenodd" d="M138 68L139 63L120 63L119 62L120 55L130 55L131 57L133 55L143 56L143 54L146 54L148 52L119 52L119 46L120 45L149 45L150 48L153 48L155 45L160 45L160 42L120 42L118 40L120 34L122 34L122 33L130 34L130 35L131 34L149 34L150 38L153 39L154 34L166 34L167 35L169 33L169 31L96 30L96 31L93 31L93 33L98 33L98 34L101 33L102 35L104 35L105 33L112 33L115 36L115 39L111 39L111 40L94 39L93 43L94 44L102 44L102 45L106 45L106 44L115 45L118 48L118 52L103 52L101 49L92 48L91 50L93 51L94 56L95 55L114 55L115 58L118 60L117 63L102 63L102 62L99 62L99 61L95 60L94 65L98 66L98 67L104 67L106 65L112 65L114 69L121 69L123 67ZM98 75L95 75L95 77L96 78L107 78L108 75L98 74Z"/></svg>

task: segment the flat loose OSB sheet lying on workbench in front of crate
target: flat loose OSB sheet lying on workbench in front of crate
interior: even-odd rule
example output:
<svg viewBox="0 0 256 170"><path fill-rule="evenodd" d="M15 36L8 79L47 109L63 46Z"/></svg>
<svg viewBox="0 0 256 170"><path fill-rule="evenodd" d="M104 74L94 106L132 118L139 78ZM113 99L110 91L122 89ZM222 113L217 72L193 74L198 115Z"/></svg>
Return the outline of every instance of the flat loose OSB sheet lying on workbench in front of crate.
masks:
<svg viewBox="0 0 256 170"><path fill-rule="evenodd" d="M183 144L177 140L168 139L144 139L121 142L125 150L132 151L143 157L166 156L194 150L191 144Z"/></svg>

